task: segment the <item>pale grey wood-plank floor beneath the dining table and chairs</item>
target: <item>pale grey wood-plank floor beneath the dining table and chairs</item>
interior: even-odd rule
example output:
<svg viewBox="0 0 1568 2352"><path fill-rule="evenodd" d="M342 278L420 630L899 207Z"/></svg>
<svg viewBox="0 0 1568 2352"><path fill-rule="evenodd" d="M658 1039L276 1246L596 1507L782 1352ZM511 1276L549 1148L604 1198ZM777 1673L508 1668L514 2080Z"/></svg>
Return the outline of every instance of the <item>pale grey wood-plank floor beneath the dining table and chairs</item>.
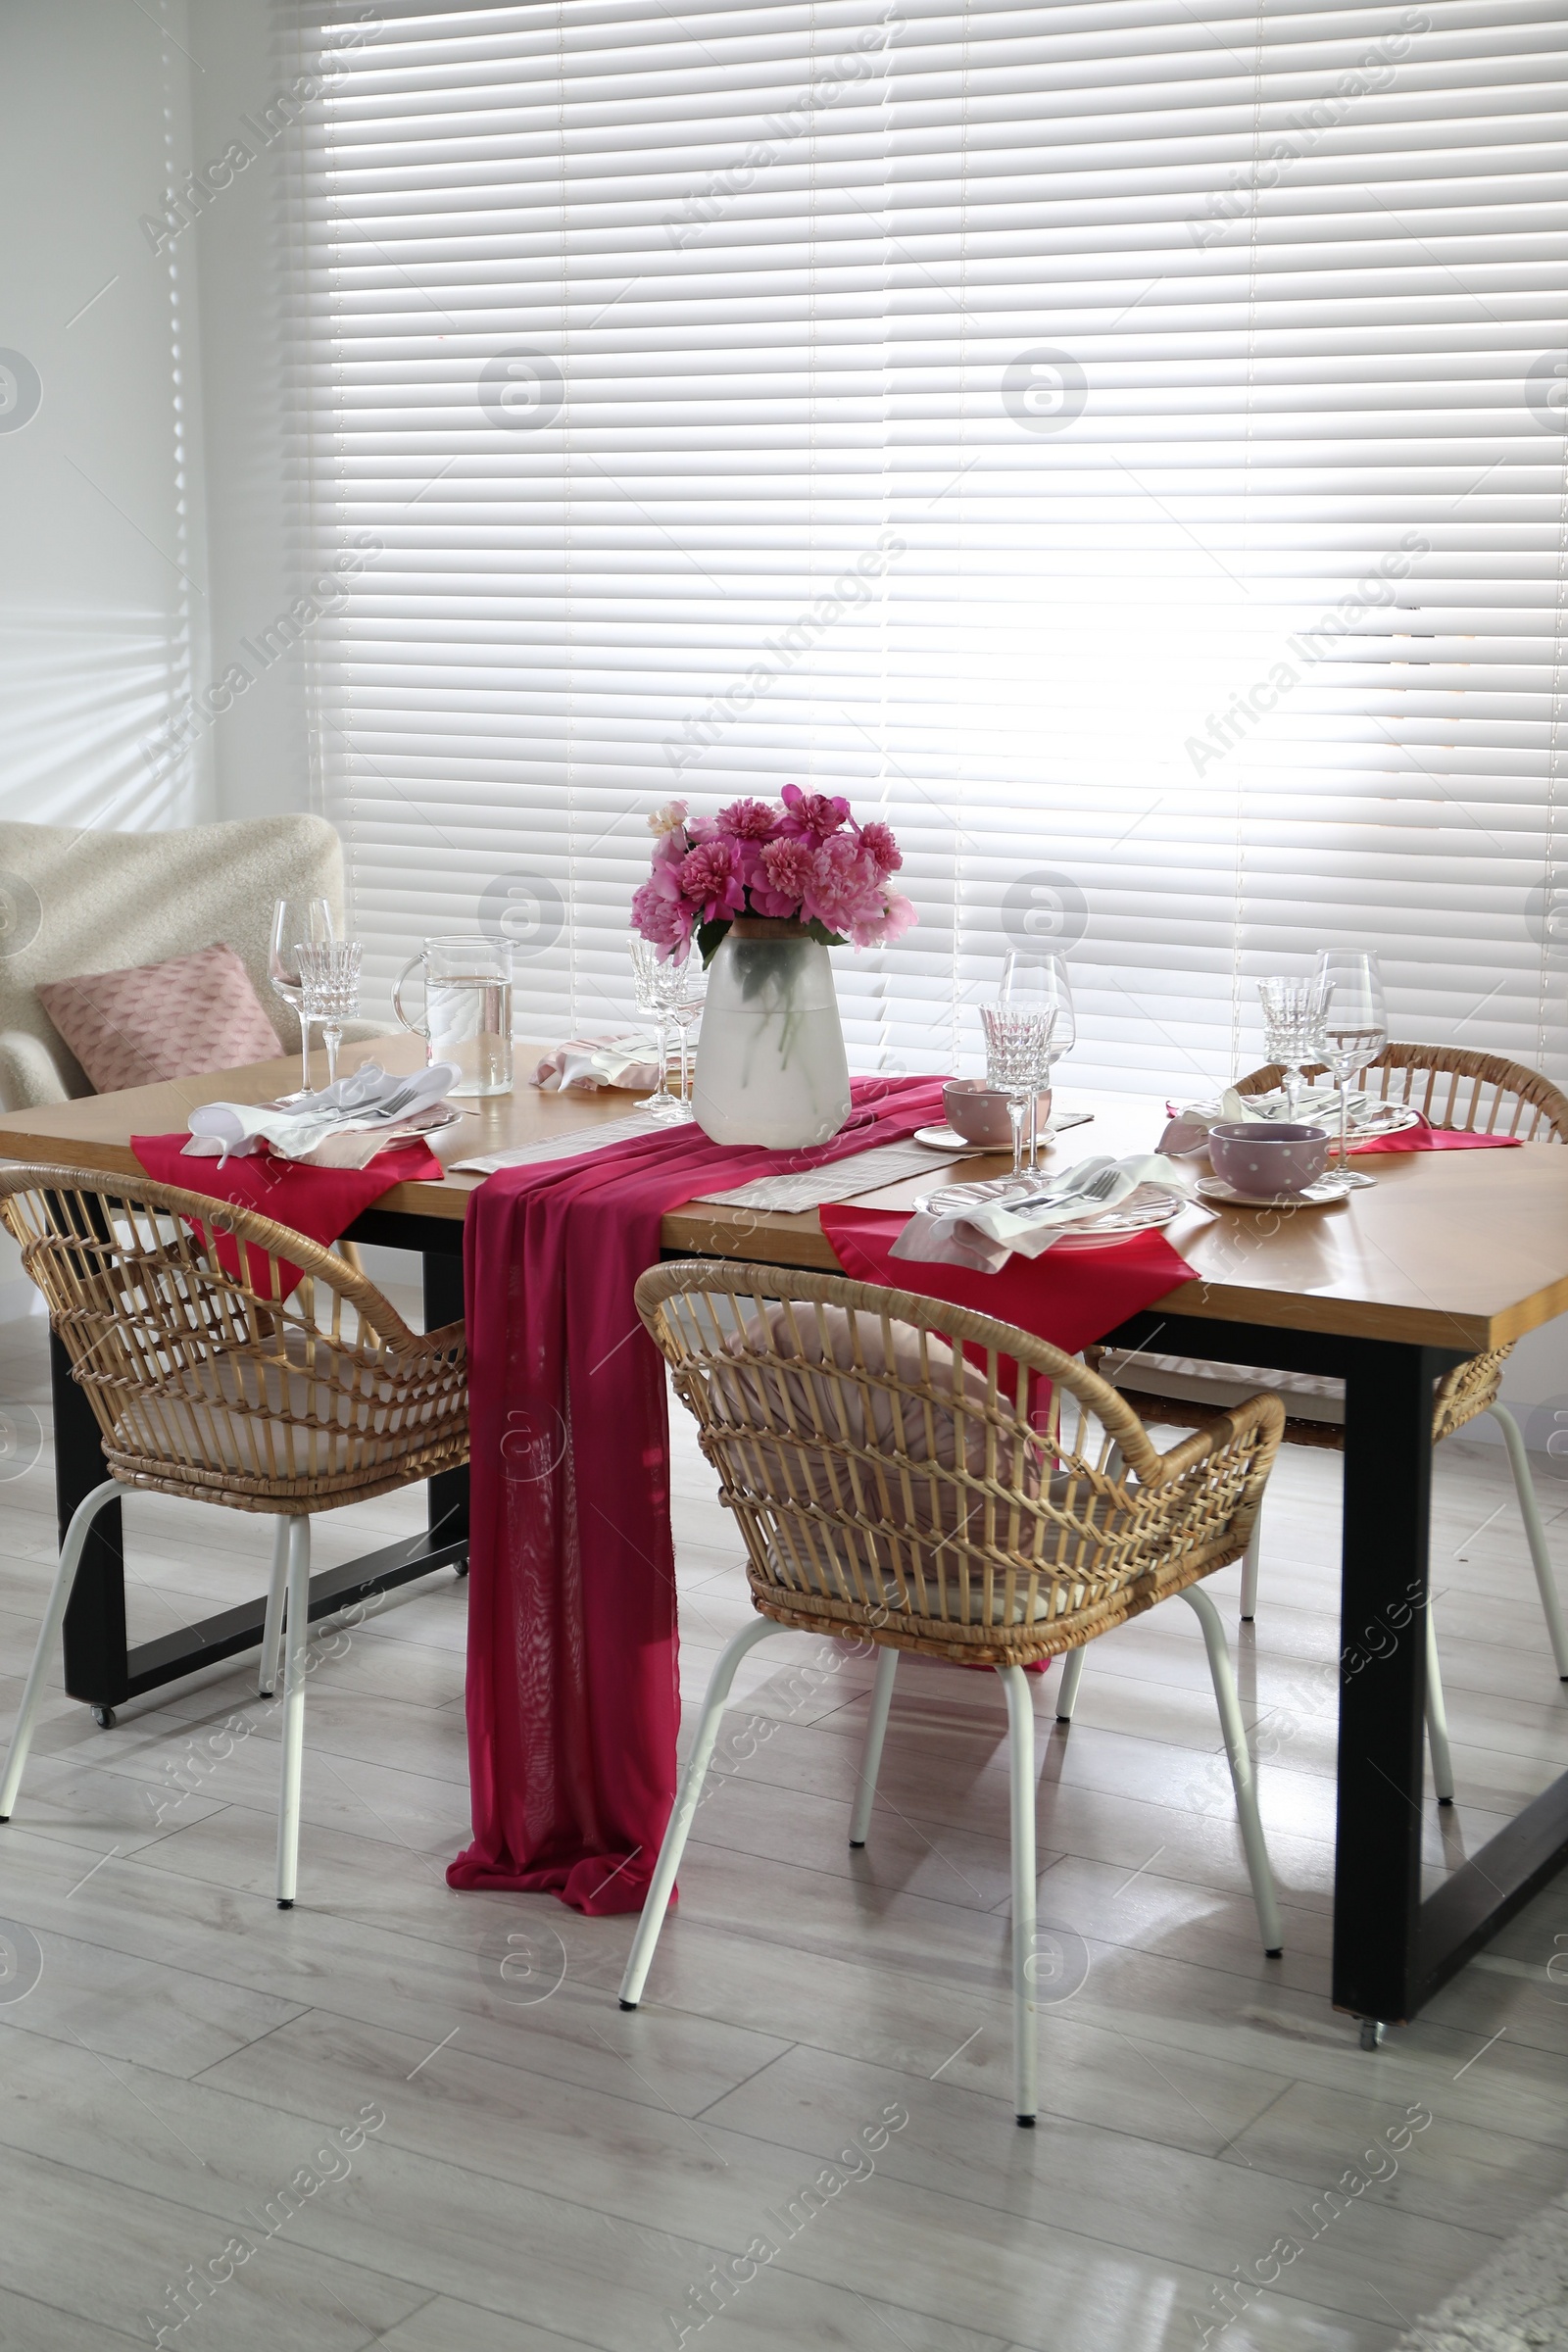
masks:
<svg viewBox="0 0 1568 2352"><path fill-rule="evenodd" d="M38 1322L0 1334L7 1722L52 1564L42 1371ZM684 1423L677 1442L696 1698L748 1602ZM1067 1736L1056 1672L1039 1684L1058 1973L1034 2133L1009 2096L990 1675L905 1661L851 1853L870 1670L802 1635L764 1644L635 2016L616 2006L630 1919L447 1891L465 1839L451 1573L322 1639L292 1915L270 1893L277 1715L244 1670L113 1731L56 1696L0 1830L19 1969L0 1980L0 2345L1187 2352L1201 2321L1227 2352L1389 2345L1563 2187L1568 1884L1375 2056L1328 2006L1338 1482L1335 1456L1284 1456L1239 1646L1281 1962L1258 1947L1190 1611L1095 1646ZM317 1522L317 1562L421 1505ZM1500 1449L1443 1446L1436 1524L1460 1783L1443 1835L1429 1809L1441 1870L1446 1842L1474 1849L1568 1766L1568 1691ZM266 1522L136 1496L127 1529L139 1637L263 1583ZM1552 1541L1568 1576L1568 1517ZM1213 1590L1234 1628L1237 1571ZM1410 2110L1432 2122L1385 2178L1326 2199ZM886 2122L837 2192L804 2194ZM1279 2239L1305 2246L1284 2270ZM1279 2284L1220 2333L1218 2288L1258 2267ZM207 2300L193 2270L221 2279Z"/></svg>

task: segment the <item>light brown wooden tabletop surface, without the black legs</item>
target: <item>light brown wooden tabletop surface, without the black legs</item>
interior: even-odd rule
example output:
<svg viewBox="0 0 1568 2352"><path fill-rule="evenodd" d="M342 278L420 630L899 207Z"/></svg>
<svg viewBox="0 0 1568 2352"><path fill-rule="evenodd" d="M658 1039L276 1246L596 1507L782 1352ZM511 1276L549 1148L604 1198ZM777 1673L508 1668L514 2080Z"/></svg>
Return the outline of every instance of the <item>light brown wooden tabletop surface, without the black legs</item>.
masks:
<svg viewBox="0 0 1568 2352"><path fill-rule="evenodd" d="M393 1070L423 1061L416 1037L386 1037L343 1049L343 1063L376 1056ZM444 1164L498 1152L571 1129L625 1117L625 1094L541 1094L527 1084L538 1049L517 1047L517 1091L465 1112L433 1138ZM324 1070L322 1070L324 1075ZM0 1157L54 1167L136 1174L134 1134L183 1129L209 1101L268 1101L299 1084L299 1061L259 1063L212 1077L89 1094L75 1103L0 1115ZM1150 1096L1058 1091L1063 1110L1093 1110L1051 1150L1063 1167L1086 1152L1152 1150L1164 1105ZM1006 1162L938 1160L943 1176L994 1174ZM1211 1322L1258 1322L1293 1331L1410 1341L1429 1348L1500 1348L1568 1310L1568 1150L1526 1143L1519 1150L1387 1152L1361 1162L1378 1183L1328 1209L1190 1211L1168 1228L1171 1244L1199 1275L1161 1301L1178 1315ZM461 1218L482 1178L395 1185L378 1207L409 1216ZM870 1192L863 1207L907 1207L917 1178ZM780 1216L705 1209L696 1202L663 1221L665 1249L750 1258L762 1265L837 1261L816 1211Z"/></svg>

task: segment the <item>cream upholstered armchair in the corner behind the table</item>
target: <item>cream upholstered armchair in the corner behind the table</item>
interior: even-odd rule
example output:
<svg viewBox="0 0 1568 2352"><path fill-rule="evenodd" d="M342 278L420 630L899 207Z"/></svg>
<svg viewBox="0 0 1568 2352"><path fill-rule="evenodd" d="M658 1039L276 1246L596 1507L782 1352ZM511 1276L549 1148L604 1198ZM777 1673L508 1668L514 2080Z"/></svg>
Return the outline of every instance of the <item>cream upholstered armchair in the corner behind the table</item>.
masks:
<svg viewBox="0 0 1568 2352"><path fill-rule="evenodd" d="M40 981L160 964L223 941L277 1035L299 1021L268 985L275 898L329 898L343 917L343 844L320 816L261 816L186 833L82 833L0 823L0 1108L92 1094L38 1002ZM378 1023L348 1023L374 1037Z"/></svg>

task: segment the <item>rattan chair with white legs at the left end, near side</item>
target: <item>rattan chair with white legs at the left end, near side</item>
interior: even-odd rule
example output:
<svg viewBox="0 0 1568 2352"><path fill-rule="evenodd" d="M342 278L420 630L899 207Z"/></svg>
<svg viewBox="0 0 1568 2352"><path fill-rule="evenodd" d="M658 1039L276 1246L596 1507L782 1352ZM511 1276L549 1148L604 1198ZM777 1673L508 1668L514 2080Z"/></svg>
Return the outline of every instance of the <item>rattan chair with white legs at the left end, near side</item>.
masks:
<svg viewBox="0 0 1568 2352"><path fill-rule="evenodd" d="M49 1588L12 1752L9 1820L49 1656L92 1522L125 1486L277 1519L259 1686L284 1630L277 1903L294 1903L310 1639L310 1517L468 1461L463 1324L409 1331L374 1282L287 1225L205 1192L80 1169L0 1171L0 1223L45 1294L103 1432L108 1479L78 1505ZM223 1265L228 1258L228 1265ZM303 1279L284 1298L284 1268Z"/></svg>

